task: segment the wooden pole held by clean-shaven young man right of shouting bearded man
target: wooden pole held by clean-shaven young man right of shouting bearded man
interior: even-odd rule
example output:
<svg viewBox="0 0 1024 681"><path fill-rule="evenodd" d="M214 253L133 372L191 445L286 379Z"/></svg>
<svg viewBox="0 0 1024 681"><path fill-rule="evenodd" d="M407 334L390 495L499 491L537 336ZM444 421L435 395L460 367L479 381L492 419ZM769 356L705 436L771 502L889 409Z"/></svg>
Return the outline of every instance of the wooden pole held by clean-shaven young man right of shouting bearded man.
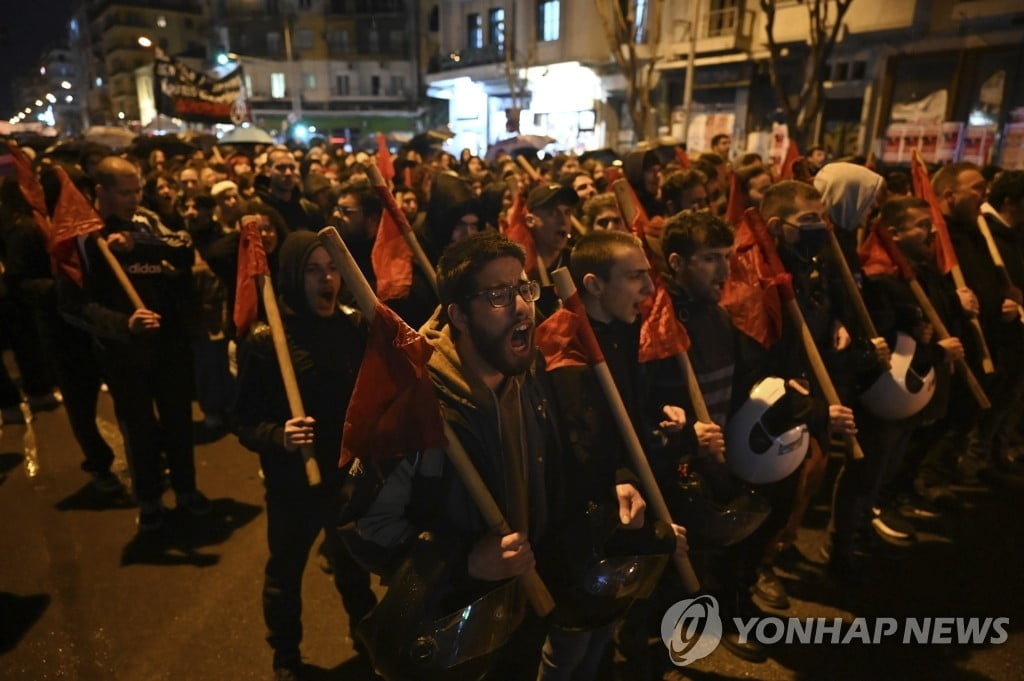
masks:
<svg viewBox="0 0 1024 681"><path fill-rule="evenodd" d="M555 290L558 291L558 297L562 299L562 304L568 305L569 299L577 293L575 285L572 283L569 270L565 267L559 267L552 273L552 276L555 281ZM583 322L580 325L581 331L593 334L594 331L591 329L586 312L582 312L580 315ZM640 478L640 484L646 495L647 505L654 511L654 517L663 522L672 524L672 514L669 512L669 506L665 503L665 497L662 496L662 490L657 485L657 480L654 478L654 472L650 469L650 464L647 462L647 455L644 454L643 446L640 444L640 438L637 437L636 430L633 428L633 422L630 421L629 414L626 412L626 405L623 403L623 397L618 393L618 388L611 377L611 371L608 369L607 363L601 361L593 365L592 368L595 376L597 376L597 382L601 385L601 391L604 393L604 396L608 400L608 406L611 408L611 414L615 419L615 424L618 426L623 440L626 442L626 449L630 454L630 461ZM676 555L675 563L686 591L689 593L700 591L700 582L693 571L690 559L687 556Z"/></svg>

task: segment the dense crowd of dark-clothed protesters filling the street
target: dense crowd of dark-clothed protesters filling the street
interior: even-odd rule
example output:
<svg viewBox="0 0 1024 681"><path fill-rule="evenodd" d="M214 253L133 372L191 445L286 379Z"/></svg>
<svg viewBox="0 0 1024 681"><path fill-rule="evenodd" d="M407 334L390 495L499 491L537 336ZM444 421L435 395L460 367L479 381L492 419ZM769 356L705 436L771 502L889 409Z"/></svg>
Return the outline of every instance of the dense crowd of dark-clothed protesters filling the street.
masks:
<svg viewBox="0 0 1024 681"><path fill-rule="evenodd" d="M322 531L319 551L356 649L386 678L427 678L416 671L422 664L459 679L592 679L614 654L626 661L615 667L620 678L646 680L666 662L652 654L648 635L687 593L669 559L687 552L702 591L718 599L723 644L746 661L770 655L730 622L758 613L759 603L790 607L779 565L810 572L820 565L795 541L826 478L829 451L842 470L820 558L840 582L870 579L883 546L909 549L915 519L956 513L955 485L1024 474L1024 172L949 164L914 196L910 173L828 160L821 147L787 159L780 176L756 154L732 155L727 135L699 155L656 147L621 161L539 161L532 153L526 163L503 153L484 161L469 150L456 158L402 147L381 164L385 153L254 146L139 158L86 144L78 163L34 159L48 213L67 190L58 169L94 206L99 233L141 305L97 240L77 240L80 281L54 274L51 245L17 179L0 186L0 326L20 377L18 386L0 366L3 424L62 402L96 491L124 494L95 425L105 384L145 533L165 522L168 486L178 507L209 512L194 463L197 438L234 433L258 453L269 544L262 598L275 679L302 674L301 578ZM315 232L336 227L362 276L381 290L374 247L388 208L367 164L393 168L395 204L434 268L429 276L418 264L407 293L384 302L433 348L429 373L444 419L510 531L495 534L434 450L377 468L370 493L358 479L366 473L353 470L358 464L338 466L369 324ZM616 180L633 206L613 191ZM644 218L640 232L635 213ZM240 337L234 327L250 219L279 296L301 417L286 398L270 331L259 324ZM765 248L758 229L790 276L803 329L784 315L764 317L766 291L744 293L744 258ZM963 281L947 273L948 253L935 255L936 237L945 233ZM891 254L880 255L884 237L912 278ZM656 517L591 371L552 358L545 325L560 318L552 280L561 267L678 524ZM844 284L847 268L857 295ZM918 286L934 310L916 297ZM640 361L643 321L659 293L688 331L700 399L678 357ZM838 399L826 398L802 345L807 336ZM539 344L549 347L538 352ZM887 414L886 396L871 388L897 367L913 405ZM784 413L771 425L743 411L770 377L784 393ZM203 414L195 424L194 401ZM730 450L756 449L758 436L762 451L788 452L783 434L800 442L787 470L755 479L730 465ZM854 439L863 458L854 456ZM315 488L304 448L323 472ZM694 506L701 495L716 509L752 495L759 505L743 516L745 531L726 536L714 513ZM428 557L443 565L439 580L419 562ZM603 578L624 565L637 584L584 588L614 582ZM371 570L389 585L380 604ZM534 570L554 596L547 620L510 595L513 578ZM432 593L424 584L443 587L433 603L416 600ZM401 632L381 626L379 613L396 607L436 625L413 639L428 631L439 652L417 657L415 645L402 647ZM502 607L507 616L493 616ZM494 649L456 645L462 640L438 624L451 612L489 628L480 638Z"/></svg>

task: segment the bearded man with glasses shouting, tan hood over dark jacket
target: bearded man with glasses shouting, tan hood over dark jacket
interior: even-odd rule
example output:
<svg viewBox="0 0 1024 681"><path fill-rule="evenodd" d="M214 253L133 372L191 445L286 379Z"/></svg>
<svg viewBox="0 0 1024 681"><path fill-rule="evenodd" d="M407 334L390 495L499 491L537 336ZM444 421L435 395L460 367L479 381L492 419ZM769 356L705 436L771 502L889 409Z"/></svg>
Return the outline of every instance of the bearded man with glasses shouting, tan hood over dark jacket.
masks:
<svg viewBox="0 0 1024 681"><path fill-rule="evenodd" d="M442 414L495 496L511 534L488 529L440 451L398 464L358 521L359 536L378 551L393 554L392 564L423 546L425 530L430 530L431 543L450 547L442 555L452 564L441 583L453 594L451 608L437 615L496 590L518 589L512 578L531 567L552 585L564 570L562 456L534 344L540 287L526 280L524 265L522 249L493 231L452 244L437 266L445 318L424 328L434 348L429 372ZM462 623L464 630L515 629L508 644L489 651L495 657L486 678L536 678L541 621L519 607L501 620L493 612L471 611L475 616ZM479 678L466 674L460 678Z"/></svg>

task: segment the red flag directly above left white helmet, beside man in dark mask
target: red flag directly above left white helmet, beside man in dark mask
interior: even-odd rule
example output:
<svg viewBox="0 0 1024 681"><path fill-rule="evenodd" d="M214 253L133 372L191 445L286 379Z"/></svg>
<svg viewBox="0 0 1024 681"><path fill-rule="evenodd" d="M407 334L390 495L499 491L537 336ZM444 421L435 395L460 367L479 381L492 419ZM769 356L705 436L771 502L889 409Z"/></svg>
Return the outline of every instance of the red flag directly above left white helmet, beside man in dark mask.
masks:
<svg viewBox="0 0 1024 681"><path fill-rule="evenodd" d="M736 228L722 306L737 329L762 346L771 347L782 337L780 289L792 290L792 279L787 273L775 272L769 265L751 225L755 209L744 213Z"/></svg>

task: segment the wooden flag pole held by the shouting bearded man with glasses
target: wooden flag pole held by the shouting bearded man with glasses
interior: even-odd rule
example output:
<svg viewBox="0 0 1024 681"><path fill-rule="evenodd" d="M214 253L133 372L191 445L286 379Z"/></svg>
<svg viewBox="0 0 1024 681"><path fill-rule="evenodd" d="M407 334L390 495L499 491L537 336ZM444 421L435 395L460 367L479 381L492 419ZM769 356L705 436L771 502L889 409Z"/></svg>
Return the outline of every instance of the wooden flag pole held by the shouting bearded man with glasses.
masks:
<svg viewBox="0 0 1024 681"><path fill-rule="evenodd" d="M352 292L359 311L362 312L362 315L368 321L372 321L377 309L377 296L370 287L370 283L362 275L359 266L355 264L355 259L349 253L348 247L345 246L338 230L334 227L325 227L316 236L319 238L319 242L324 245L324 248L331 254L335 264L338 266L338 270L341 271L341 275L345 280L345 285ZM495 501L490 491L487 490L486 483L480 477L466 450L462 446L462 443L455 432L453 432L447 421L443 419L442 421L444 423L444 436L449 441L446 449L449 461L452 462L452 466L459 473L463 484L466 485L466 490L473 499L473 503L480 511L480 515L483 516L484 523L492 533L496 533L499 536L504 537L505 535L512 534L512 528L509 526L498 503ZM545 616L551 612L555 606L555 601L544 581L541 580L541 576L538 574L537 569L531 568L518 579L535 611L541 616Z"/></svg>

